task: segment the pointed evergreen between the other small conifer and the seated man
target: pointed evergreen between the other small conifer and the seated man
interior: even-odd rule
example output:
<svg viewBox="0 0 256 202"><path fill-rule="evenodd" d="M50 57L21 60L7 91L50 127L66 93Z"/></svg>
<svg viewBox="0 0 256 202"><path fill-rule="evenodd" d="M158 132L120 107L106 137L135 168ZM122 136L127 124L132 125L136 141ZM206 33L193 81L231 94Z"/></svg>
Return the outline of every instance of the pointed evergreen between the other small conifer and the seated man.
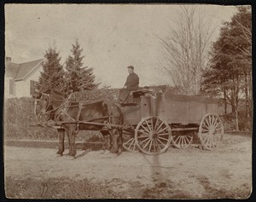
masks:
<svg viewBox="0 0 256 202"><path fill-rule="evenodd" d="M78 40L72 45L72 55L69 55L66 61L66 89L73 91L90 90L97 87L95 84L95 76L93 74L93 68L84 66L82 62L84 56L81 56L83 49L80 49Z"/></svg>

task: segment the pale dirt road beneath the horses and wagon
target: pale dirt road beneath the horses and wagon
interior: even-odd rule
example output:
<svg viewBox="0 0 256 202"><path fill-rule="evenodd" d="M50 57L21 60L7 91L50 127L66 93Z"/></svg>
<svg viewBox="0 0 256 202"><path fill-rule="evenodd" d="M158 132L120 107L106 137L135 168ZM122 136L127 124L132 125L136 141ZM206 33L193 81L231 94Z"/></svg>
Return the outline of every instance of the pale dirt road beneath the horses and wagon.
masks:
<svg viewBox="0 0 256 202"><path fill-rule="evenodd" d="M247 198L251 191L249 136L226 135L215 151L170 147L158 156L79 150L77 158L72 159L67 155L57 157L55 152L50 148L4 147L6 185L7 179L87 179L119 193L120 198L137 199ZM8 195L11 188L6 187Z"/></svg>

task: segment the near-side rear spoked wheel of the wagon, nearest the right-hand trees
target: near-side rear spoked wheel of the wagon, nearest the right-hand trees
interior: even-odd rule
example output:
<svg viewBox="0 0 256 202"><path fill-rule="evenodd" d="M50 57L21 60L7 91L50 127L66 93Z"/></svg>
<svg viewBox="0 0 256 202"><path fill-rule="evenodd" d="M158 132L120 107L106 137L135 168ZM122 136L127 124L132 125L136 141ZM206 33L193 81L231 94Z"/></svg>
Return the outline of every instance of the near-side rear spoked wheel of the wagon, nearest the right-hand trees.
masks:
<svg viewBox="0 0 256 202"><path fill-rule="evenodd" d="M208 113L201 119L198 136L205 149L218 147L224 136L224 125L215 113Z"/></svg>

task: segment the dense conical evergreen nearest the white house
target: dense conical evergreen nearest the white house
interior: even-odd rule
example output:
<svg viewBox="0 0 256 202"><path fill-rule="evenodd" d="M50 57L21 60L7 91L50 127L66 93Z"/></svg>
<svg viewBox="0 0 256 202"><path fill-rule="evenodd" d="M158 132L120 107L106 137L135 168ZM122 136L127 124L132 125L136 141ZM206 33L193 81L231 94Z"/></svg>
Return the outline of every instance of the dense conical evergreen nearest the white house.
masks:
<svg viewBox="0 0 256 202"><path fill-rule="evenodd" d="M61 66L61 57L56 48L49 48L45 51L43 72L40 72L36 90L38 93L49 93L51 89L64 89L64 70Z"/></svg>

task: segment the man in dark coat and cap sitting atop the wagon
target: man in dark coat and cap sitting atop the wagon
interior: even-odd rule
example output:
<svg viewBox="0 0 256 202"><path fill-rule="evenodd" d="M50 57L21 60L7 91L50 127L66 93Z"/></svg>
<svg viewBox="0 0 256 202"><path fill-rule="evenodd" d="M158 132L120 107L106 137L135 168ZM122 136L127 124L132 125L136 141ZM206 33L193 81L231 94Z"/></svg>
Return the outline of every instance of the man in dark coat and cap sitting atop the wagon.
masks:
<svg viewBox="0 0 256 202"><path fill-rule="evenodd" d="M128 66L129 75L126 78L125 85L123 89L119 91L119 102L122 104L126 101L127 97L132 93L132 91L138 89L139 77L134 72L134 66Z"/></svg>

